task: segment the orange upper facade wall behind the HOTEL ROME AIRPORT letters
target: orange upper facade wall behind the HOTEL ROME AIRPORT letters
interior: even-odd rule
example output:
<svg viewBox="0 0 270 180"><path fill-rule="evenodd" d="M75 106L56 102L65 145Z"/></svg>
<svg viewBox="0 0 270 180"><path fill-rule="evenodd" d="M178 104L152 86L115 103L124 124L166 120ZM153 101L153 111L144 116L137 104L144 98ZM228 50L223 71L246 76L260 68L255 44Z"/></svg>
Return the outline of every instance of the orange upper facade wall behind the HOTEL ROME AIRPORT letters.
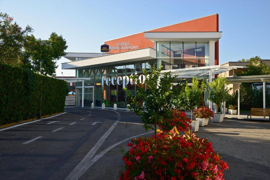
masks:
<svg viewBox="0 0 270 180"><path fill-rule="evenodd" d="M218 14L149 30L147 32L218 32ZM154 43L144 38L144 32L105 41L104 43L110 46L109 53L126 52L146 47L154 48ZM218 65L218 41L215 42L215 65Z"/></svg>

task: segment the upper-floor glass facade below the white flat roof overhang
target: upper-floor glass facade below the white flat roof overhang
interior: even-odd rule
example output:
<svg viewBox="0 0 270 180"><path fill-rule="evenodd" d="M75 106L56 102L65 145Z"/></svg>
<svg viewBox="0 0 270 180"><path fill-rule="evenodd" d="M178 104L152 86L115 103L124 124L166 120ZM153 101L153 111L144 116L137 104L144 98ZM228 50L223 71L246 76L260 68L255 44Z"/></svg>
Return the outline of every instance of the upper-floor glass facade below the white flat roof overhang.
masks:
<svg viewBox="0 0 270 180"><path fill-rule="evenodd" d="M209 66L209 42L157 42L157 66L163 70Z"/></svg>

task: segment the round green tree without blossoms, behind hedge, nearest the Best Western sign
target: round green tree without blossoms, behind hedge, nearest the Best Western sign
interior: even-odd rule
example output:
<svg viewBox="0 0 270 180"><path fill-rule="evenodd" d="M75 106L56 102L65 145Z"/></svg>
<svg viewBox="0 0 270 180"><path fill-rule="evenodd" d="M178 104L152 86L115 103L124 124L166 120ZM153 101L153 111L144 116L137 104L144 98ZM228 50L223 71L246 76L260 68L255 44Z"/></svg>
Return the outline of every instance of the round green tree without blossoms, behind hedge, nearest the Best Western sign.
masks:
<svg viewBox="0 0 270 180"><path fill-rule="evenodd" d="M58 36L55 32L50 35L48 40L36 39L33 35L26 37L24 44L23 62L25 67L34 72L40 71L40 62L44 68L43 74L55 76L56 61L65 56L67 49L66 40L62 35Z"/></svg>

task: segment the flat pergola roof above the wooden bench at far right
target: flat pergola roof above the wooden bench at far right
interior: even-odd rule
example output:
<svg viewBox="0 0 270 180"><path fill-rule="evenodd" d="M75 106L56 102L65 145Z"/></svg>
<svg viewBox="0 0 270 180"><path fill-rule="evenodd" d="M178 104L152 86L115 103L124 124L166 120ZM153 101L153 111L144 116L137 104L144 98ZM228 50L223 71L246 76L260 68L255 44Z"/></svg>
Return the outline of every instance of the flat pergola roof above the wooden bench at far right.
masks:
<svg viewBox="0 0 270 180"><path fill-rule="evenodd" d="M257 76L234 76L227 77L227 83L255 83L255 82L270 82L269 75L257 75Z"/></svg>

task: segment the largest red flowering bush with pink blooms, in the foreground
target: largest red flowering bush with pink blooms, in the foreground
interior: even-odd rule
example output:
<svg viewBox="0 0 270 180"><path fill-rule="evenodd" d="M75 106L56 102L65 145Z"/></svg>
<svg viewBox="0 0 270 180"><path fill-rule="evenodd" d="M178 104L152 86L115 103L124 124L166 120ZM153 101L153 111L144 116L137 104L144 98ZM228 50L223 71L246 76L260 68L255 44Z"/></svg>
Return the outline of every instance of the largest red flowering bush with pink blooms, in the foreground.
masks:
<svg viewBox="0 0 270 180"><path fill-rule="evenodd" d="M189 130L178 134L174 128L168 133L160 131L157 136L131 140L119 180L222 179L228 166L214 152L211 142Z"/></svg>

